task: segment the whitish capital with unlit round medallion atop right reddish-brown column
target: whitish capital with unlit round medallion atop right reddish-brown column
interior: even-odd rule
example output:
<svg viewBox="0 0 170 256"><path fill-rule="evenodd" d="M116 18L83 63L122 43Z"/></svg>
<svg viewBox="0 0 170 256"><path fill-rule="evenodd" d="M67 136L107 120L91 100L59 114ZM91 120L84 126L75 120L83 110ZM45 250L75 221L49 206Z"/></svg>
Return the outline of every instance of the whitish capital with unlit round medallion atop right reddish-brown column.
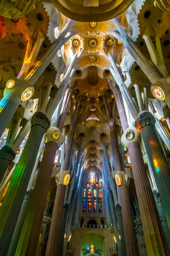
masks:
<svg viewBox="0 0 170 256"><path fill-rule="evenodd" d="M127 128L121 137L121 143L126 148L130 142L137 142L141 144L141 134L135 127Z"/></svg>

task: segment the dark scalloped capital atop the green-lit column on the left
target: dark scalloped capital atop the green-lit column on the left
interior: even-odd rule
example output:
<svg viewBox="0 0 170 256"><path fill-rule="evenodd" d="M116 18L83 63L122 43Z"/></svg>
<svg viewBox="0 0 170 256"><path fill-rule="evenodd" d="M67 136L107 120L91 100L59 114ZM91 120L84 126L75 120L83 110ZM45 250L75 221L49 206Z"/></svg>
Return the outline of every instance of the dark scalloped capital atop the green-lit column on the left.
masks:
<svg viewBox="0 0 170 256"><path fill-rule="evenodd" d="M45 131L49 128L50 121L45 113L42 113L41 111L37 111L34 113L31 118L31 128L35 125L40 125L42 128L45 129Z"/></svg>

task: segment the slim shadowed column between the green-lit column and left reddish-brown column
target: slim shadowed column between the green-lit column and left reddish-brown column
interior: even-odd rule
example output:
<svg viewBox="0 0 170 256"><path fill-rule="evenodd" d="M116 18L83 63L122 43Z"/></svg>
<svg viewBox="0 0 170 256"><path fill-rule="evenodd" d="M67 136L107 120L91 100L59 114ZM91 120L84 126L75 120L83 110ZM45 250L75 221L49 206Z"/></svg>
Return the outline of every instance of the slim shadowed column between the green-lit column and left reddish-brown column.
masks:
<svg viewBox="0 0 170 256"><path fill-rule="evenodd" d="M13 234L13 237L12 237L12 240L11 240L11 244L10 244L7 256L14 256L15 255L15 250L17 248L18 240L20 238L20 233L21 233L21 230L23 228L26 213L27 213L27 210L28 210L29 205L30 205L31 194L32 194L32 189L30 189L30 191L26 192L26 195L25 195L23 205L22 205L21 210L20 210L20 215L19 215L18 220L17 220L17 224L16 224L16 227L15 227L15 231L14 231L14 234Z"/></svg>

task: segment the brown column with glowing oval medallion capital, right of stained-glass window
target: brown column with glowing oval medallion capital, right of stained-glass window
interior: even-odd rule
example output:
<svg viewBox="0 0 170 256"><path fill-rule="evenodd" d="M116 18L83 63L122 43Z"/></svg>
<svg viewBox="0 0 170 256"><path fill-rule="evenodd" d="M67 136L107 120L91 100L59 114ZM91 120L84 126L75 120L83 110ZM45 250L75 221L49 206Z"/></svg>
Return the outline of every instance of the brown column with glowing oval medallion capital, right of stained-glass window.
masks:
<svg viewBox="0 0 170 256"><path fill-rule="evenodd" d="M128 185L130 177L125 172L118 171L115 174L116 184L119 186L120 200L122 205L123 229L127 256L139 255L135 233L135 225L129 198Z"/></svg>

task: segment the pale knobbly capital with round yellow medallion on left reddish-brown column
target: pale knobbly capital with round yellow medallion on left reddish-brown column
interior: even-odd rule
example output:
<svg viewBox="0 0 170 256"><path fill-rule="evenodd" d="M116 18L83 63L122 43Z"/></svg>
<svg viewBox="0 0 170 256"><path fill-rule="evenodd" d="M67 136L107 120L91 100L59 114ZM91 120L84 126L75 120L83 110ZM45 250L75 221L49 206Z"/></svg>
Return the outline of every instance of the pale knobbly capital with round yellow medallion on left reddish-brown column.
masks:
<svg viewBox="0 0 170 256"><path fill-rule="evenodd" d="M60 147L60 145L63 144L64 136L62 135L62 133L59 130L59 128L57 128L57 127L50 127L46 131L45 137L44 137L44 142L46 144L46 143L48 143L50 141L54 141L55 143L57 143L58 148Z"/></svg>

